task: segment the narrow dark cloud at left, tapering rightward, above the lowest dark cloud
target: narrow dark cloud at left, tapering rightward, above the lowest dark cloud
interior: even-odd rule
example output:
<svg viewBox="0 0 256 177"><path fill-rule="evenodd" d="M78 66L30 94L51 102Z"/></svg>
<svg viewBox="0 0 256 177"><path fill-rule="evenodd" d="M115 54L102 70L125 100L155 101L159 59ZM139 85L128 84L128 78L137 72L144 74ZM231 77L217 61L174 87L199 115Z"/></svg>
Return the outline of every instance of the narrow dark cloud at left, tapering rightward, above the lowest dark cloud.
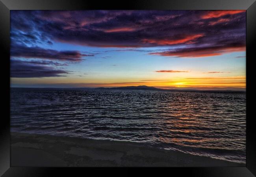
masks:
<svg viewBox="0 0 256 177"><path fill-rule="evenodd" d="M94 55L86 55L78 51L57 51L39 47L15 45L11 46L11 56L79 62L82 61L82 57Z"/></svg>

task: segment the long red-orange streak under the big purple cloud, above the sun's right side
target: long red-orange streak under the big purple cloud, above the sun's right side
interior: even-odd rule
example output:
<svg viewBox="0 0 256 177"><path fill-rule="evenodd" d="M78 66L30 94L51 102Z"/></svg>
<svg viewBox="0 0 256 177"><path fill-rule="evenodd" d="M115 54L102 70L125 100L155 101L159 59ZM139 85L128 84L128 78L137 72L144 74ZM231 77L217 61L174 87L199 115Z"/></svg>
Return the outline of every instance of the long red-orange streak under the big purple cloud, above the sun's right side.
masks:
<svg viewBox="0 0 256 177"><path fill-rule="evenodd" d="M173 44L182 44L187 42L192 42L195 39L203 37L203 34L196 34L196 35L185 35L181 39L142 39L143 43L150 43L150 44L159 44L159 45L173 45Z"/></svg>

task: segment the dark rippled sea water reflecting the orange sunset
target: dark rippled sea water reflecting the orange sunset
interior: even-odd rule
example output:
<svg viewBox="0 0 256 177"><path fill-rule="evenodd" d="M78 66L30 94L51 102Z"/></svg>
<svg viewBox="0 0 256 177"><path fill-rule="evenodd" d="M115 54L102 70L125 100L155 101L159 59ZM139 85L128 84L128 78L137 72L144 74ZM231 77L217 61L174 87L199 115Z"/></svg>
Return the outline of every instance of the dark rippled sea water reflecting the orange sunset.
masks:
<svg viewBox="0 0 256 177"><path fill-rule="evenodd" d="M145 143L246 162L246 94L11 88L11 131Z"/></svg>

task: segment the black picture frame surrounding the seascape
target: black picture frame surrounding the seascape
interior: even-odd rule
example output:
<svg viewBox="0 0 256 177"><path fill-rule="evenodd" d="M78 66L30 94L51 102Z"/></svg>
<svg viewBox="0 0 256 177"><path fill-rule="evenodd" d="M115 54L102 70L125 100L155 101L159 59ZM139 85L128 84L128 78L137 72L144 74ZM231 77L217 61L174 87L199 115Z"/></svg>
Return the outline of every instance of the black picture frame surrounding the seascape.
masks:
<svg viewBox="0 0 256 177"><path fill-rule="evenodd" d="M170 173L202 177L253 177L256 175L256 131L254 128L254 47L256 46L256 2L255 0L137 0L137 1L97 1L97 0L0 0L0 46L2 49L2 105L4 116L0 123L0 175L6 176L58 176L82 175L93 170L94 175L108 171L109 168L18 168L10 164L10 10L84 10L84 9L168 9L168 10L247 10L247 44L246 44L246 167L222 168L164 168ZM130 172L130 168L118 168ZM145 168L143 168L145 169ZM113 169L117 170L117 168ZM153 170L153 171L152 171ZM155 168L147 168L147 173L156 173ZM62 173L62 175L61 175ZM115 172L116 173L116 172ZM123 173L123 172L122 172ZM73 175L74 176L74 175ZM175 175L176 176L176 175Z"/></svg>

